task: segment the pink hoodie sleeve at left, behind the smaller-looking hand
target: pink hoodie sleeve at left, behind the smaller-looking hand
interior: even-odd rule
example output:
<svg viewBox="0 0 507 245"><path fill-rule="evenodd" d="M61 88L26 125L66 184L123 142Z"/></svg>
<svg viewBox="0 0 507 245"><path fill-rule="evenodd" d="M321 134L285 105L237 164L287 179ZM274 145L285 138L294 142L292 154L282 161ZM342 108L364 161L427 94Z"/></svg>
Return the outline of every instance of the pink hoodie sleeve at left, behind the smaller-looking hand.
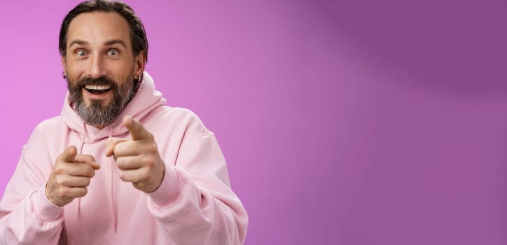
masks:
<svg viewBox="0 0 507 245"><path fill-rule="evenodd" d="M34 134L0 201L0 244L58 244L60 239L63 208L46 198L43 173L52 164L36 155L43 150L34 143Z"/></svg>

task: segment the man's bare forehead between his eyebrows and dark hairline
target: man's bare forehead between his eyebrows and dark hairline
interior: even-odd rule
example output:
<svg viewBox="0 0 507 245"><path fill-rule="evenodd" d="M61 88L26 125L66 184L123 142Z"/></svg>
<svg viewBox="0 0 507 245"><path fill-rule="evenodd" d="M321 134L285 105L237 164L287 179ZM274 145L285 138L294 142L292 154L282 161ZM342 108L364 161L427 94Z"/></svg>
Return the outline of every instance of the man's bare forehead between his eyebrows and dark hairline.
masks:
<svg viewBox="0 0 507 245"><path fill-rule="evenodd" d="M71 21L67 31L67 45L74 40L102 45L111 39L123 40L130 47L130 27L118 13L81 13Z"/></svg>

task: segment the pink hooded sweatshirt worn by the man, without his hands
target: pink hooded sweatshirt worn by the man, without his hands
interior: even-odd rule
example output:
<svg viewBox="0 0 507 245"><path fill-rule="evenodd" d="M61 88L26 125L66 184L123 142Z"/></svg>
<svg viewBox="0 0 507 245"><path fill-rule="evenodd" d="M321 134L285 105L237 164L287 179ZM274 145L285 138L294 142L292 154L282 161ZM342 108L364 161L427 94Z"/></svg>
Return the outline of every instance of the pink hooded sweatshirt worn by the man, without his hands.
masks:
<svg viewBox="0 0 507 245"><path fill-rule="evenodd" d="M118 118L99 130L69 104L36 127L0 201L0 244L243 244L248 216L230 189L218 143L194 113L165 106L144 73L137 94ZM128 138L122 119L137 118L157 141L165 162L158 190L143 193L121 181L108 137ZM85 197L57 207L44 188L55 160L74 145L95 157Z"/></svg>

